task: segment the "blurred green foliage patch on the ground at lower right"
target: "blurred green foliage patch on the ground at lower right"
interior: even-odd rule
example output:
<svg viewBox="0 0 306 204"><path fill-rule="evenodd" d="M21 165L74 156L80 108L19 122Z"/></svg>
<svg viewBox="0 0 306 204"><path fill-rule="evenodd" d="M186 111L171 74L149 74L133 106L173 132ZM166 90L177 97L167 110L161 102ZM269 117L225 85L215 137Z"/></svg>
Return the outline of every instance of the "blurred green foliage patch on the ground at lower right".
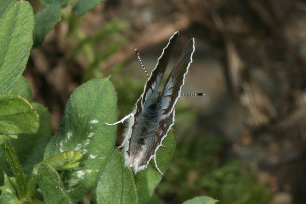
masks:
<svg viewBox="0 0 306 204"><path fill-rule="evenodd" d="M159 194L166 196L171 189L177 202L182 202L205 191L222 203L269 203L267 187L238 160L222 164L223 148L221 138L204 135L179 143L169 172L157 189Z"/></svg>

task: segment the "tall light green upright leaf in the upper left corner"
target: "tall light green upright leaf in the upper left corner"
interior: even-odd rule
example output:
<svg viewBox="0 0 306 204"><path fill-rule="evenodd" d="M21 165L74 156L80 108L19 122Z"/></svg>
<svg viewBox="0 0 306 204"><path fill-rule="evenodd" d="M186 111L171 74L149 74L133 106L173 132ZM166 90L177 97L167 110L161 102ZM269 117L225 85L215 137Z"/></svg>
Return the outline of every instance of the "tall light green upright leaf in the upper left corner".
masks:
<svg viewBox="0 0 306 204"><path fill-rule="evenodd" d="M11 93L33 44L34 14L29 2L11 4L0 19L0 95Z"/></svg>

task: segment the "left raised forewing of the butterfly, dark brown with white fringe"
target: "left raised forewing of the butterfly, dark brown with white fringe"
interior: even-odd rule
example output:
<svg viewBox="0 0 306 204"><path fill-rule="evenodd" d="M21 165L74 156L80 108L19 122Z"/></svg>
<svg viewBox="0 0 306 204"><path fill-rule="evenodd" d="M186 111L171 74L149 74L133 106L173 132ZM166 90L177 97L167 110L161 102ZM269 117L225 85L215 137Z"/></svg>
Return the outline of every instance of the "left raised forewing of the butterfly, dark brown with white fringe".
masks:
<svg viewBox="0 0 306 204"><path fill-rule="evenodd" d="M150 78L144 86L144 92L141 99L141 104L149 106L156 101L158 87L162 81L165 70L168 66L170 55L175 45L176 39L179 36L179 31L176 31L169 39L167 46L163 49L161 56L157 59L157 64L153 69Z"/></svg>

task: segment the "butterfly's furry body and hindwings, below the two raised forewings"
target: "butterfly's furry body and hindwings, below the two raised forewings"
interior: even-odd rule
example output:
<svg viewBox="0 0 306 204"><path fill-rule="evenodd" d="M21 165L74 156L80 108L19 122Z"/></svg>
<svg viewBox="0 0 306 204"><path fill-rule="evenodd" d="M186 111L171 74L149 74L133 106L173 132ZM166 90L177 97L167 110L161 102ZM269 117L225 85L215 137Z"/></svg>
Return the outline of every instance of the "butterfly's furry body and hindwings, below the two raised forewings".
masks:
<svg viewBox="0 0 306 204"><path fill-rule="evenodd" d="M140 103L137 105L140 106ZM135 173L146 168L155 157L156 150L174 122L174 110L169 117L162 119L158 100L138 110L140 111L135 111L127 123L126 137L129 139L123 144L125 165L133 167Z"/></svg>

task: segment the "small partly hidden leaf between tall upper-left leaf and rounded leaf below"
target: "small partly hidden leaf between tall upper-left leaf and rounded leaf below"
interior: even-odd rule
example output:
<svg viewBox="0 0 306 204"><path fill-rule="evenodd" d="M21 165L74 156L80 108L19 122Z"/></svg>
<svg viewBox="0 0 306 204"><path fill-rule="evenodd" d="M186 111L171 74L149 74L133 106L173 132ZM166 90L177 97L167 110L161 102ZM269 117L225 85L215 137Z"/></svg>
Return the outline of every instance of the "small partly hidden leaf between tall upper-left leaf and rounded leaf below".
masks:
<svg viewBox="0 0 306 204"><path fill-rule="evenodd" d="M29 82L22 75L18 78L12 90L8 94L17 94L24 97L29 102L32 101L32 92Z"/></svg>

